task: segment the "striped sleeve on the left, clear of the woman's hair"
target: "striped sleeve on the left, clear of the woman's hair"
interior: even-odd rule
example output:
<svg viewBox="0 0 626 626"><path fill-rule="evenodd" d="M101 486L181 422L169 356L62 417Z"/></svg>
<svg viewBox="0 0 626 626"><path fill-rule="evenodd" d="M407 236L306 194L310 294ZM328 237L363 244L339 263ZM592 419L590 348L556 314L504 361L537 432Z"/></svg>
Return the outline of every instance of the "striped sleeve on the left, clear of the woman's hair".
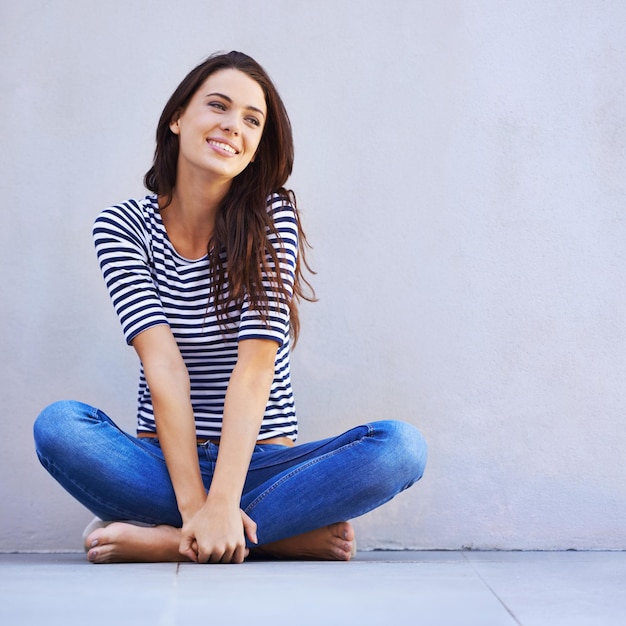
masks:
<svg viewBox="0 0 626 626"><path fill-rule="evenodd" d="M141 208L128 202L105 209L93 227L104 282L128 344L167 318L150 272L150 245Z"/></svg>

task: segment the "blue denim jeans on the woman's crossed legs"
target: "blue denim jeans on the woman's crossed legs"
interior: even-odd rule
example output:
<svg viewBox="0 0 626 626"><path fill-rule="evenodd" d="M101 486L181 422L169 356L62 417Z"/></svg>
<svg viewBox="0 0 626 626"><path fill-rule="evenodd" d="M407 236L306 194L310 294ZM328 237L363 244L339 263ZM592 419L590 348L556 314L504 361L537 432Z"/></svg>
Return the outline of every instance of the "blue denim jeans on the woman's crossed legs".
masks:
<svg viewBox="0 0 626 626"><path fill-rule="evenodd" d="M102 411L73 401L44 409L34 435L42 465L101 519L182 525L158 440L128 435ZM218 449L198 446L207 490ZM398 421L294 447L257 445L241 508L262 545L375 509L419 480L425 463L422 435Z"/></svg>

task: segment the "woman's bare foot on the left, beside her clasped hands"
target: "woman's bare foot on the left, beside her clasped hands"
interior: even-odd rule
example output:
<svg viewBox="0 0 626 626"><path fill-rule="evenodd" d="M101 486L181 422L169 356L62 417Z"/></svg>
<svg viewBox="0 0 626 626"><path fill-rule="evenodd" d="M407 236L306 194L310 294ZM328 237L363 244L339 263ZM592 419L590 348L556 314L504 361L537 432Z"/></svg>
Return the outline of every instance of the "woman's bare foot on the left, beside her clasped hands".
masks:
<svg viewBox="0 0 626 626"><path fill-rule="evenodd" d="M187 561L178 551L180 529L112 522L85 539L92 563L156 563Z"/></svg>

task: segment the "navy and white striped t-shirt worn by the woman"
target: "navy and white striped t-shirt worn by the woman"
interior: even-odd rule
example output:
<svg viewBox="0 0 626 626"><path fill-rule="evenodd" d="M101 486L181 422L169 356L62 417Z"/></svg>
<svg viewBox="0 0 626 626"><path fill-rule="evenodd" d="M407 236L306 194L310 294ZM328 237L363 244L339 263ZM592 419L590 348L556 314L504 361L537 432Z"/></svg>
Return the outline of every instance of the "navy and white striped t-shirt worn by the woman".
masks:
<svg viewBox="0 0 626 626"><path fill-rule="evenodd" d="M293 206L279 195L268 198L268 212L278 237L268 234L277 251L284 286L294 284L298 229ZM271 339L279 344L274 380L259 439L295 440L297 421L289 373L289 309L263 284L269 297L267 322L244 299L229 305L218 321L210 300L208 255L190 260L176 252L161 220L157 198L129 200L109 207L93 228L100 268L130 344L140 332L167 324L172 330L191 383L191 404L199 437L220 436L224 398L242 339ZM137 432L156 432L150 390L143 366L139 375Z"/></svg>

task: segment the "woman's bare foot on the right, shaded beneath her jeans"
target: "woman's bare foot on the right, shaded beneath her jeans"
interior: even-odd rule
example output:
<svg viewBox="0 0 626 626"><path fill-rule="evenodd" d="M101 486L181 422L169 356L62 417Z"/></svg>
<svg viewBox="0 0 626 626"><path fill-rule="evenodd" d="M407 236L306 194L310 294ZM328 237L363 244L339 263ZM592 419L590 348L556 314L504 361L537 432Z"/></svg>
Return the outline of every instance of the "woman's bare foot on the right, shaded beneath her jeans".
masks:
<svg viewBox="0 0 626 626"><path fill-rule="evenodd" d="M251 552L278 559L349 561L356 553L354 528L350 522L337 522L302 535L266 543Z"/></svg>

